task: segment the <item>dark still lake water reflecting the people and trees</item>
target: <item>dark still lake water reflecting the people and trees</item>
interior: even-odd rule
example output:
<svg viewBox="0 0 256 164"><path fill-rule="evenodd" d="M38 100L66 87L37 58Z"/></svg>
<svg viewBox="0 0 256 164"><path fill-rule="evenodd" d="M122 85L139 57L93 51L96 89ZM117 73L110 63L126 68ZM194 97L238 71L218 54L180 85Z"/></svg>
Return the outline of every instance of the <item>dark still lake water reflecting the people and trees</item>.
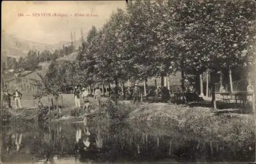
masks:
<svg viewBox="0 0 256 164"><path fill-rule="evenodd" d="M174 136L175 129L161 125L151 129L143 123L114 124L104 115L86 122L10 121L1 131L4 163L44 163L46 160L55 163L253 161L251 154L233 158L230 152L216 147L214 154L209 149L200 149L202 145L196 140L181 142L179 135L187 135L182 131L176 131ZM18 151L17 147L20 147Z"/></svg>

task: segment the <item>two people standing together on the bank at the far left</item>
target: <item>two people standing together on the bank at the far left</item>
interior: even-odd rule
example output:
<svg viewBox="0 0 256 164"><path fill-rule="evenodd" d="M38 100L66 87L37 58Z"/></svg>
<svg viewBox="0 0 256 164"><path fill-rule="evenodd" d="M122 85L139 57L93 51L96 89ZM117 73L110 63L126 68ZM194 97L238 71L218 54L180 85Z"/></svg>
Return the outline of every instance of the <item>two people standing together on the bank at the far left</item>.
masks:
<svg viewBox="0 0 256 164"><path fill-rule="evenodd" d="M8 92L6 89L4 94L3 94L3 99L1 103L4 105L7 105L9 108L12 108L11 106L11 98L13 98L16 109L22 108L22 104L20 103L20 100L22 99L22 93L18 91L18 89L15 89L14 92L11 94Z"/></svg>

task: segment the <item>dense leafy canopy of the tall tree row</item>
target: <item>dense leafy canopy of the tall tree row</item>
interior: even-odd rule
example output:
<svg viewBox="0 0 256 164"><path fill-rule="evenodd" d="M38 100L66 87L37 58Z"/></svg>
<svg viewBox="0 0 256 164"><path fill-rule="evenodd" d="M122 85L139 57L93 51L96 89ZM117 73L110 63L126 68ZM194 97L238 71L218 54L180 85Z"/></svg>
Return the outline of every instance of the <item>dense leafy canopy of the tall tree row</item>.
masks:
<svg viewBox="0 0 256 164"><path fill-rule="evenodd" d="M255 45L253 1L135 1L95 27L72 64L71 81L122 83L207 69L251 69ZM211 78L214 79L214 76Z"/></svg>

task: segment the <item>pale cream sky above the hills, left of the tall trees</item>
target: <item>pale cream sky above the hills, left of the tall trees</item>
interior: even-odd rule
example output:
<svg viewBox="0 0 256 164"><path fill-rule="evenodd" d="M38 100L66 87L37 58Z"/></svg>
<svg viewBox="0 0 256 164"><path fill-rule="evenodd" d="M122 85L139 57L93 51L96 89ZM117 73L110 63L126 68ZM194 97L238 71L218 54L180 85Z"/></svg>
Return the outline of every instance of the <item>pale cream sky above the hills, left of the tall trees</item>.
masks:
<svg viewBox="0 0 256 164"><path fill-rule="evenodd" d="M125 9L122 1L4 1L2 2L2 30L18 38L40 43L58 43L76 39L81 28L87 33L94 25L101 28L117 8ZM21 13L21 14L20 14ZM43 16L49 13L51 16ZM68 15L53 16L54 13ZM84 16L76 17L80 13ZM24 16L21 16L21 15ZM37 16L34 16L37 14ZM38 16L39 14L39 16ZM86 14L90 14L87 16ZM94 16L91 16L91 15Z"/></svg>

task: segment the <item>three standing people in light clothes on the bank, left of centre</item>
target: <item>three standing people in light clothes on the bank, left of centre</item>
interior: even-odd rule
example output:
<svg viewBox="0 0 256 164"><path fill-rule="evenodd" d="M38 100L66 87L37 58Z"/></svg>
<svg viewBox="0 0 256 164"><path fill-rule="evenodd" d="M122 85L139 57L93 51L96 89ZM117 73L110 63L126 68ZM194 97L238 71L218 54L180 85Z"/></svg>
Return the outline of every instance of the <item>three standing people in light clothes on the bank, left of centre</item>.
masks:
<svg viewBox="0 0 256 164"><path fill-rule="evenodd" d="M82 88L81 91L78 89L78 87L75 87L75 90L73 92L74 94L74 101L77 108L81 107L80 98L84 101L83 109L89 110L90 102L89 102L89 91L87 88ZM100 98L101 98L101 92L99 87L96 87L94 91L94 98L97 101L97 105L100 106Z"/></svg>

